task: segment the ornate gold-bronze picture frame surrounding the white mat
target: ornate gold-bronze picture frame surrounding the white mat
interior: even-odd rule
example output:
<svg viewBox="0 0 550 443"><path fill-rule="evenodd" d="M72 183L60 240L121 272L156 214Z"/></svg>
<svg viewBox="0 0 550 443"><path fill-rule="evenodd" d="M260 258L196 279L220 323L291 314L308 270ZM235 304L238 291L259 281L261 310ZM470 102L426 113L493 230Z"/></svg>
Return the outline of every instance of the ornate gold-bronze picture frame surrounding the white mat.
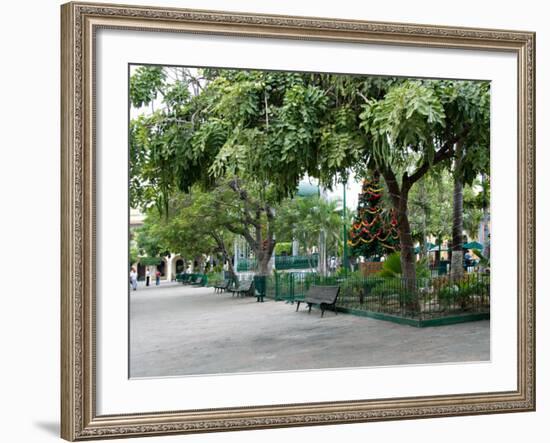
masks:
<svg viewBox="0 0 550 443"><path fill-rule="evenodd" d="M532 32L67 3L62 23L61 436L217 432L535 410L535 35ZM95 51L99 29L473 49L517 56L517 389L98 415ZM122 91L121 94L125 93Z"/></svg>

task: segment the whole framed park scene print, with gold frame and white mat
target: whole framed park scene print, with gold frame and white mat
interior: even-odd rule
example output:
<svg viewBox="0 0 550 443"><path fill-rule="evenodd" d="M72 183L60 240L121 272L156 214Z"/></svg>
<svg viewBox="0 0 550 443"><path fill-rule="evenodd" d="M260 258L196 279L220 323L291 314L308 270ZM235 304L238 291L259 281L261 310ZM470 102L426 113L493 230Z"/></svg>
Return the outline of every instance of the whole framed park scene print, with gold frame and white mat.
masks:
<svg viewBox="0 0 550 443"><path fill-rule="evenodd" d="M534 33L61 16L63 438L534 410Z"/></svg>

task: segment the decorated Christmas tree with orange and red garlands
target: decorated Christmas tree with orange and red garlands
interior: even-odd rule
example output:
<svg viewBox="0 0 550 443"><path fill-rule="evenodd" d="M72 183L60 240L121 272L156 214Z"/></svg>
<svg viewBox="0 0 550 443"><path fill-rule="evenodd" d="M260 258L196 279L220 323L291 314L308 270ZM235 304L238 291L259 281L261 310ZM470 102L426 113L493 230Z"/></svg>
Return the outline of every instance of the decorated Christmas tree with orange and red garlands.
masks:
<svg viewBox="0 0 550 443"><path fill-rule="evenodd" d="M382 207L383 192L378 174L363 180L348 240L351 253L356 257L380 257L399 248L397 218L393 209Z"/></svg>

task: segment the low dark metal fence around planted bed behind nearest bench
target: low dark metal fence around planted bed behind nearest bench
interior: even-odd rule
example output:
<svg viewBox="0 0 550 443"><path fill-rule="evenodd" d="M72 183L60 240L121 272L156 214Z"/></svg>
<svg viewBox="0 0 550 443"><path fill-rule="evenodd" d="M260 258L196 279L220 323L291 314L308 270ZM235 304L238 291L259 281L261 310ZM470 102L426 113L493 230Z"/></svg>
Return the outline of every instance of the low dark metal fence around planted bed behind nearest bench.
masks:
<svg viewBox="0 0 550 443"><path fill-rule="evenodd" d="M490 310L490 279L481 273L466 273L458 279L439 276L414 280L278 273L267 278L265 295L275 300L303 300L311 285L339 285L339 308L404 318L431 319Z"/></svg>

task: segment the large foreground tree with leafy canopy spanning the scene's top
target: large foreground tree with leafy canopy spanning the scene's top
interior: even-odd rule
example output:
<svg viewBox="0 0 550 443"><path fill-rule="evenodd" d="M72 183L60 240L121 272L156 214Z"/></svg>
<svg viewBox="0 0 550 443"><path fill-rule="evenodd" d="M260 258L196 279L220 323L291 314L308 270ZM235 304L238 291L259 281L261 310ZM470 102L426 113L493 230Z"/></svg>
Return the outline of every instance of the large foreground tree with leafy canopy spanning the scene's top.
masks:
<svg viewBox="0 0 550 443"><path fill-rule="evenodd" d="M132 128L146 171L138 174L144 191L136 194L150 186L153 195L145 199L162 206L174 187L238 176L257 185L265 201L263 189L282 199L306 174L331 186L349 169L376 169L397 215L403 276L413 282L409 193L433 167L450 168L457 146L456 174L467 181L477 173L488 140L486 83L236 70L200 75L182 74L176 82L184 91L200 85L200 93L173 94L173 102L164 94L167 106Z"/></svg>

